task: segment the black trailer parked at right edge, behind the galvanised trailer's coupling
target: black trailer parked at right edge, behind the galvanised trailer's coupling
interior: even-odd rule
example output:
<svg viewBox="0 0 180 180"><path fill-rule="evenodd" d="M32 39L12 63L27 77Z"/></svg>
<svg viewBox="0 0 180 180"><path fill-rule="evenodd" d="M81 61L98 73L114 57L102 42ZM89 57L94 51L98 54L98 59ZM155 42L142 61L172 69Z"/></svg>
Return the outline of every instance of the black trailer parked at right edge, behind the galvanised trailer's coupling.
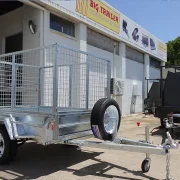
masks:
<svg viewBox="0 0 180 180"><path fill-rule="evenodd" d="M161 66L159 79L145 79L147 81L147 99L145 107L160 119L164 127L164 119L171 113L180 113L180 66ZM149 90L149 82L153 81ZM174 118L180 123L179 117Z"/></svg>

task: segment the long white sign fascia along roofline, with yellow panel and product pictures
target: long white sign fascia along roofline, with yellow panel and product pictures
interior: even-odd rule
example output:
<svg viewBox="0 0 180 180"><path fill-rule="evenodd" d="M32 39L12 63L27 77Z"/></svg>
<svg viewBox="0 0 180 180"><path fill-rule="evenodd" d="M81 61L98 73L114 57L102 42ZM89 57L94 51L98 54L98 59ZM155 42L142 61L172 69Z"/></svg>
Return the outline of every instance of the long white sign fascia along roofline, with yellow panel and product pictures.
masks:
<svg viewBox="0 0 180 180"><path fill-rule="evenodd" d="M52 0L53 1L53 0ZM54 0L55 1L55 0ZM81 21L90 24L94 28L103 30L106 33L114 32L120 41L125 41L131 46L135 46L140 51L149 53L159 59L167 60L166 44L157 37L143 29L137 23L129 19L122 13L114 10L102 0L76 0L57 1L58 4L69 11L81 15ZM118 3L118 2L117 2ZM93 25L89 20L95 22ZM102 29L103 26L104 28ZM111 34L112 35L112 34Z"/></svg>

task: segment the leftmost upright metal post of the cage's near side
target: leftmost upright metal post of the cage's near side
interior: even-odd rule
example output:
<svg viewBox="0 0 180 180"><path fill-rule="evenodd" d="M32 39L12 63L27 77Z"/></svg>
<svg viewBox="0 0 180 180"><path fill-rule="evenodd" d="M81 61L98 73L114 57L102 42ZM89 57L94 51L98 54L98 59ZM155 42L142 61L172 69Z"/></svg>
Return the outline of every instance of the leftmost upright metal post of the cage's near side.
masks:
<svg viewBox="0 0 180 180"><path fill-rule="evenodd" d="M16 105L16 58L12 55L12 79L11 79L11 108Z"/></svg>

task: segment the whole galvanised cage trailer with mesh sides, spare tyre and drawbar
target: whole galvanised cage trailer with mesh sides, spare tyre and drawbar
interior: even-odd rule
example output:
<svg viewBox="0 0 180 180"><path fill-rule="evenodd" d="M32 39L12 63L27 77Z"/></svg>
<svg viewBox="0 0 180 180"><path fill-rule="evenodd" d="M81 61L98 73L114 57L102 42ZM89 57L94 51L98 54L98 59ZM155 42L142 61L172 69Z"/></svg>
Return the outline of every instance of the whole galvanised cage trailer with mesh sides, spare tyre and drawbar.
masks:
<svg viewBox="0 0 180 180"><path fill-rule="evenodd" d="M141 168L150 169L150 154L166 155L170 180L169 132L162 145L146 138L118 138L121 112L110 98L111 61L59 44L0 56L0 164L13 160L27 140L145 153ZM101 141L81 140L94 135Z"/></svg>

